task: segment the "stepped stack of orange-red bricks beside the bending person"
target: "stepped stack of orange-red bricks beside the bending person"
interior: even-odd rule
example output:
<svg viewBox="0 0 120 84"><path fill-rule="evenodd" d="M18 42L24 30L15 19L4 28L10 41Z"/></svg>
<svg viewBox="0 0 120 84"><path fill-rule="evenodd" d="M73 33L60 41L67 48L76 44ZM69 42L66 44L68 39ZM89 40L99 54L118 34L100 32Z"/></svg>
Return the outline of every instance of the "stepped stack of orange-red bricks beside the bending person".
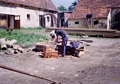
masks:
<svg viewBox="0 0 120 84"><path fill-rule="evenodd" d="M45 46L44 50L44 58L57 58L58 59L58 51L52 50L49 46Z"/></svg>

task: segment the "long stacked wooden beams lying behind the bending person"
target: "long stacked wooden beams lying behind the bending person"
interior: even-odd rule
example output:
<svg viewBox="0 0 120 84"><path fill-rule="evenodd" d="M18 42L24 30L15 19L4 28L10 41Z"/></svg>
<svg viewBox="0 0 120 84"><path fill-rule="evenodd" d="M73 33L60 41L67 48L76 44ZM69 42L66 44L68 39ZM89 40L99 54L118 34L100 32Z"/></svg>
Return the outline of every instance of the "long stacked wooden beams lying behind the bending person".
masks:
<svg viewBox="0 0 120 84"><path fill-rule="evenodd" d="M64 29L68 32L68 34L76 34L76 35L103 35L103 36L119 36L120 34L117 33L117 30L107 30L107 29L88 29L88 28L46 28L46 32L50 32L55 29Z"/></svg>

